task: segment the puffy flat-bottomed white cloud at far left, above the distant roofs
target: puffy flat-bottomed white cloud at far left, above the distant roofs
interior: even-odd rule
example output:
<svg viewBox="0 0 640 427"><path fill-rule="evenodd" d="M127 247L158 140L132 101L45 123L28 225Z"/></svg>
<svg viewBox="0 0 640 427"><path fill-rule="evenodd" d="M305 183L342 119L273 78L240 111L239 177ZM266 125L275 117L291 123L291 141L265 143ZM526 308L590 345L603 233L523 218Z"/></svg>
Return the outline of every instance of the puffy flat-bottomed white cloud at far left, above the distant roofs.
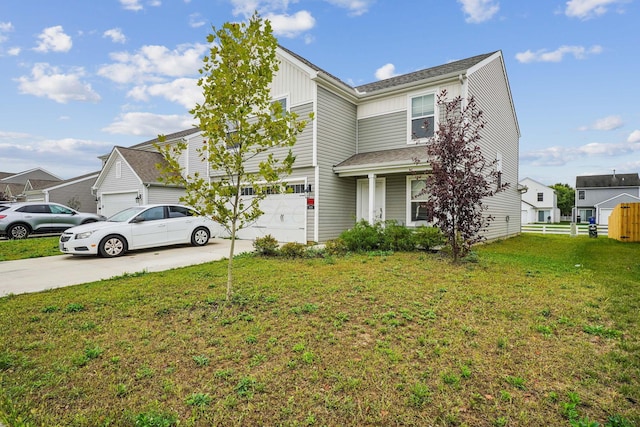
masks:
<svg viewBox="0 0 640 427"><path fill-rule="evenodd" d="M98 95L88 83L82 82L83 68L74 68L61 73L49 64L36 64L31 69L31 77L17 79L20 93L49 98L61 104L69 101L98 102Z"/></svg>

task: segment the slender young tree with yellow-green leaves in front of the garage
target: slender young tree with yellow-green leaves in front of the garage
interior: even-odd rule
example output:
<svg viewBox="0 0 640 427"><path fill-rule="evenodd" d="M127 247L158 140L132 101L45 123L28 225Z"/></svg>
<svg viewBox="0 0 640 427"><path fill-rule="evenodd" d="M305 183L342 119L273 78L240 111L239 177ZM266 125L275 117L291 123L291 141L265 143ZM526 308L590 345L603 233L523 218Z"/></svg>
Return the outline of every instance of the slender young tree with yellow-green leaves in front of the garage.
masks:
<svg viewBox="0 0 640 427"><path fill-rule="evenodd" d="M158 144L158 148L168 165L163 180L184 186L186 196L181 200L212 216L230 235L228 301L237 232L263 214L260 201L268 191L281 188L291 174L295 160L291 148L307 121L272 99L270 84L279 60L268 20L254 13L248 23L225 23L217 31L213 28L207 42L212 47L198 80L204 101L191 114L205 140L198 155L212 177L183 176L179 158L185 144ZM250 189L251 196L243 189Z"/></svg>

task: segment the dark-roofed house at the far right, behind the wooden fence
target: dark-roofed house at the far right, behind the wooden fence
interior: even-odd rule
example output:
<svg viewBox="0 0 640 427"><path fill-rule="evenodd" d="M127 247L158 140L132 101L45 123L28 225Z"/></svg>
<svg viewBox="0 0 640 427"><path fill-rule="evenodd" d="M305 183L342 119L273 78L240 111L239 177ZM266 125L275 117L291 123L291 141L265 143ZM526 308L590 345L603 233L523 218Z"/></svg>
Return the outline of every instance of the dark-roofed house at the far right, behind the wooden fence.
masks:
<svg viewBox="0 0 640 427"><path fill-rule="evenodd" d="M609 215L620 203L640 201L640 177L637 173L587 175L576 177L576 221L607 225Z"/></svg>

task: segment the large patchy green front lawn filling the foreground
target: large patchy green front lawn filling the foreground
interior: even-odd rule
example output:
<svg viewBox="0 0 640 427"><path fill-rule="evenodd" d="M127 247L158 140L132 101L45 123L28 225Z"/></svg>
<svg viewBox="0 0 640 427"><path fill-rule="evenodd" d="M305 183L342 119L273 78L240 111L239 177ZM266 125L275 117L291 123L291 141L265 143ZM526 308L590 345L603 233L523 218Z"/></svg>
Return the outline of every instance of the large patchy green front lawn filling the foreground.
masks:
<svg viewBox="0 0 640 427"><path fill-rule="evenodd" d="M640 246L476 253L245 255L230 305L224 261L2 298L0 420L639 425Z"/></svg>

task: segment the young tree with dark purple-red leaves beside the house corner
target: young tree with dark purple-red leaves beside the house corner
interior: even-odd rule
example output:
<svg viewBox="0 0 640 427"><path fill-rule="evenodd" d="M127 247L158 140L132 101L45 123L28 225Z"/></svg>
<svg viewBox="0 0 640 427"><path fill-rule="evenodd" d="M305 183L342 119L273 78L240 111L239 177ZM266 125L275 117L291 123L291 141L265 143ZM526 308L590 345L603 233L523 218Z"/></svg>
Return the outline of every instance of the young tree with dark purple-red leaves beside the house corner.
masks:
<svg viewBox="0 0 640 427"><path fill-rule="evenodd" d="M448 100L443 90L437 104L442 119L426 145L431 166L426 178L426 210L457 262L473 244L484 240L481 233L493 220L483 213L487 209L483 199L509 184L500 182L497 160L487 161L478 145L486 121L475 99L470 97L466 103L460 96Z"/></svg>

